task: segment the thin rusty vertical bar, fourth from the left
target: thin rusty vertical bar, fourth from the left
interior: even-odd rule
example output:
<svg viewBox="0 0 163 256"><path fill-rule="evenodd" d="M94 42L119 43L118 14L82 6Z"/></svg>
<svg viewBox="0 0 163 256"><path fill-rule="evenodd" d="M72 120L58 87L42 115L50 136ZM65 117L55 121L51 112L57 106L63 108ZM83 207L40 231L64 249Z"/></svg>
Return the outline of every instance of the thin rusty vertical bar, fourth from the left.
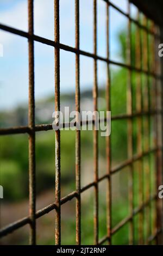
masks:
<svg viewBox="0 0 163 256"><path fill-rule="evenodd" d="M93 0L93 46L97 55L97 0ZM93 106L97 111L97 60L94 59ZM96 119L96 116L95 116ZM95 121L96 123L96 121ZM94 209L94 242L98 244L98 131L93 125L93 153L94 153L94 180L95 180L95 209Z"/></svg>

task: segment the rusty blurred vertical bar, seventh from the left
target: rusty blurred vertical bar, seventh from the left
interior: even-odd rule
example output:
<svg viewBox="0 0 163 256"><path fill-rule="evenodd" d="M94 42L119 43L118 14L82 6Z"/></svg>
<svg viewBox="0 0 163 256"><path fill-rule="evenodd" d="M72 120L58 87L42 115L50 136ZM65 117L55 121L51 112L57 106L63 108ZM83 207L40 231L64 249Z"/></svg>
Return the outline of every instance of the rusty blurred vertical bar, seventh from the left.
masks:
<svg viewBox="0 0 163 256"><path fill-rule="evenodd" d="M137 12L137 21L140 22L140 13ZM141 68L141 32L140 28L136 27L136 66ZM136 112L140 113L142 111L142 94L141 94L141 73L137 74L136 81ZM142 154L142 118L137 118L137 153ZM139 169L139 204L140 206L143 203L142 196L142 159L138 162ZM142 222L143 214L142 211L139 214L139 244L142 244Z"/></svg>

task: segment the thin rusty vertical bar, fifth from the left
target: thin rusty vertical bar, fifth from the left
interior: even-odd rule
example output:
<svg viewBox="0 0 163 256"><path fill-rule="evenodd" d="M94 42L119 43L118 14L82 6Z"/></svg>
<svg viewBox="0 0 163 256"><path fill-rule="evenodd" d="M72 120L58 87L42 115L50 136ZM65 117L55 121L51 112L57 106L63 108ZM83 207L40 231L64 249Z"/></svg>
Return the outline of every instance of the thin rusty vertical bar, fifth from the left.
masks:
<svg viewBox="0 0 163 256"><path fill-rule="evenodd" d="M106 54L109 60L109 3L106 3ZM111 111L111 88L110 88L110 67L107 65L106 82L106 111ZM111 245L111 143L110 136L106 136L106 173L108 174L108 186L106 191L106 209L107 209L107 235Z"/></svg>

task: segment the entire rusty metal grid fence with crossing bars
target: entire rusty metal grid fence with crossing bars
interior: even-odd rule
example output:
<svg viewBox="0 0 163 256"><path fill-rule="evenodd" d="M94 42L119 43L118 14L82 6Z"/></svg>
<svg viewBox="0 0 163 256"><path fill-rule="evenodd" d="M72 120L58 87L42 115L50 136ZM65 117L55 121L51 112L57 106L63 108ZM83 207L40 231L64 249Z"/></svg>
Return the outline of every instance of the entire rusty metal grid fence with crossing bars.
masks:
<svg viewBox="0 0 163 256"><path fill-rule="evenodd" d="M81 243L81 193L94 188L94 242L95 245L102 245L105 242L111 244L112 235L120 230L125 224L129 223L129 243L132 245L134 241L134 216L139 216L139 243L150 244L152 241L161 243L161 215L162 205L161 200L158 199L157 191L152 193L151 188L151 157L155 157L156 163L156 188L162 184L162 99L163 90L162 75L161 75L161 62L158 58L156 47L161 41L160 29L154 21L149 21L146 15L137 13L137 19L133 19L130 14L130 1L128 2L128 13L125 13L115 4L108 0L99 0L105 2L106 10L106 47L107 57L97 55L97 0L93 0L93 45L94 52L89 53L80 50L79 39L79 0L75 1L75 30L76 30L76 46L70 47L60 43L60 19L59 19L59 0L54 0L54 41L42 38L34 34L34 4L33 0L28 0L28 33L18 29L8 27L0 24L0 29L3 31L13 33L15 35L23 36L28 39L29 47L29 109L28 109L28 126L27 127L12 127L9 129L1 129L1 135L11 135L18 133L28 133L29 135L29 216L17 220L0 230L0 236L8 235L14 230L29 224L30 226L30 241L31 245L36 244L36 219L48 214L48 212L55 209L55 244L61 243L61 205L76 198L76 243ZM113 1L114 2L114 1ZM110 7L116 9L119 13L128 19L128 38L127 38L127 64L115 62L110 59L110 46L109 46L109 17ZM90 10L91 11L91 10ZM131 53L131 26L136 27L136 40L135 40L135 64L132 61ZM105 63L107 68L108 79L106 83L106 110L111 111L111 80L110 80L110 65L120 66L128 71L128 86L127 86L127 114L112 116L111 121L127 120L127 137L128 137L128 159L115 168L111 168L111 143L110 137L106 137L106 173L99 178L98 175L98 131L93 129L93 154L94 154L94 180L81 187L80 185L80 131L76 131L76 191L61 198L61 179L60 179L60 131L55 131L55 202L45 208L36 211L36 179L35 179L35 133L39 131L52 130L52 125L35 125L35 97L34 97L34 41L41 42L54 47L55 52L55 111L60 110L60 49L70 51L76 54L76 111L80 112L80 55L92 58L94 61L94 83L93 83L93 106L94 110L98 110L98 81L97 81L97 61L101 60ZM133 92L132 76L135 74L136 92ZM142 88L143 76L145 76L145 87ZM117 85L118 86L118 85ZM136 95L133 95L133 94ZM136 97L136 111L133 110L133 97ZM78 121L78 117L77 117ZM134 121L137 125L137 153L133 153L133 124ZM152 122L154 125L152 126ZM65 124L64 124L65 125ZM147 139L144 140L144 135L147 134ZM151 137L154 141L151 143ZM144 143L145 141L145 143ZM153 147L154 144L154 147ZM148 159L145 168L145 158ZM137 163L139 169L139 207L134 208L133 197L133 172L134 163ZM129 175L129 204L130 214L124 218L115 227L112 227L112 200L111 200L111 185L112 175L121 172L124 167L130 168ZM145 180L144 173L146 172ZM102 180L107 180L107 194L106 194L106 208L107 208L107 234L103 239L99 240L99 211L98 211L98 185ZM143 191L146 190L146 193ZM156 222L152 226L152 203L155 205ZM145 209L147 209L145 214ZM143 223L145 218L149 220L148 239L145 239ZM75 231L75 230L74 230Z"/></svg>

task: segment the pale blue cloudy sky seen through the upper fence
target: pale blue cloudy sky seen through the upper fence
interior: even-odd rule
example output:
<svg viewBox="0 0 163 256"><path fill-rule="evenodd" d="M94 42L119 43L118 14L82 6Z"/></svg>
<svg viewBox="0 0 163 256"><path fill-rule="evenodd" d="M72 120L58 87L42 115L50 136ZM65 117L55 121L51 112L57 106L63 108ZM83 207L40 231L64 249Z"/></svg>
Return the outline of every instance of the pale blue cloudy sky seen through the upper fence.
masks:
<svg viewBox="0 0 163 256"><path fill-rule="evenodd" d="M34 0L34 33L54 40L53 0ZM112 0L127 11L127 0ZM98 55L105 57L105 3L98 0ZM135 9L133 8L133 13ZM27 0L1 0L0 23L28 31ZM93 52L93 0L80 0L80 49ZM110 8L110 57L118 56L117 33L127 26L126 17ZM74 46L74 0L60 0L60 42ZM0 31L4 56L0 58L0 109L28 102L28 41ZM92 86L93 60L80 58L81 90ZM60 51L61 92L72 92L75 86L75 55ZM106 79L105 64L98 62L99 86ZM54 95L54 48L35 43L35 98Z"/></svg>

